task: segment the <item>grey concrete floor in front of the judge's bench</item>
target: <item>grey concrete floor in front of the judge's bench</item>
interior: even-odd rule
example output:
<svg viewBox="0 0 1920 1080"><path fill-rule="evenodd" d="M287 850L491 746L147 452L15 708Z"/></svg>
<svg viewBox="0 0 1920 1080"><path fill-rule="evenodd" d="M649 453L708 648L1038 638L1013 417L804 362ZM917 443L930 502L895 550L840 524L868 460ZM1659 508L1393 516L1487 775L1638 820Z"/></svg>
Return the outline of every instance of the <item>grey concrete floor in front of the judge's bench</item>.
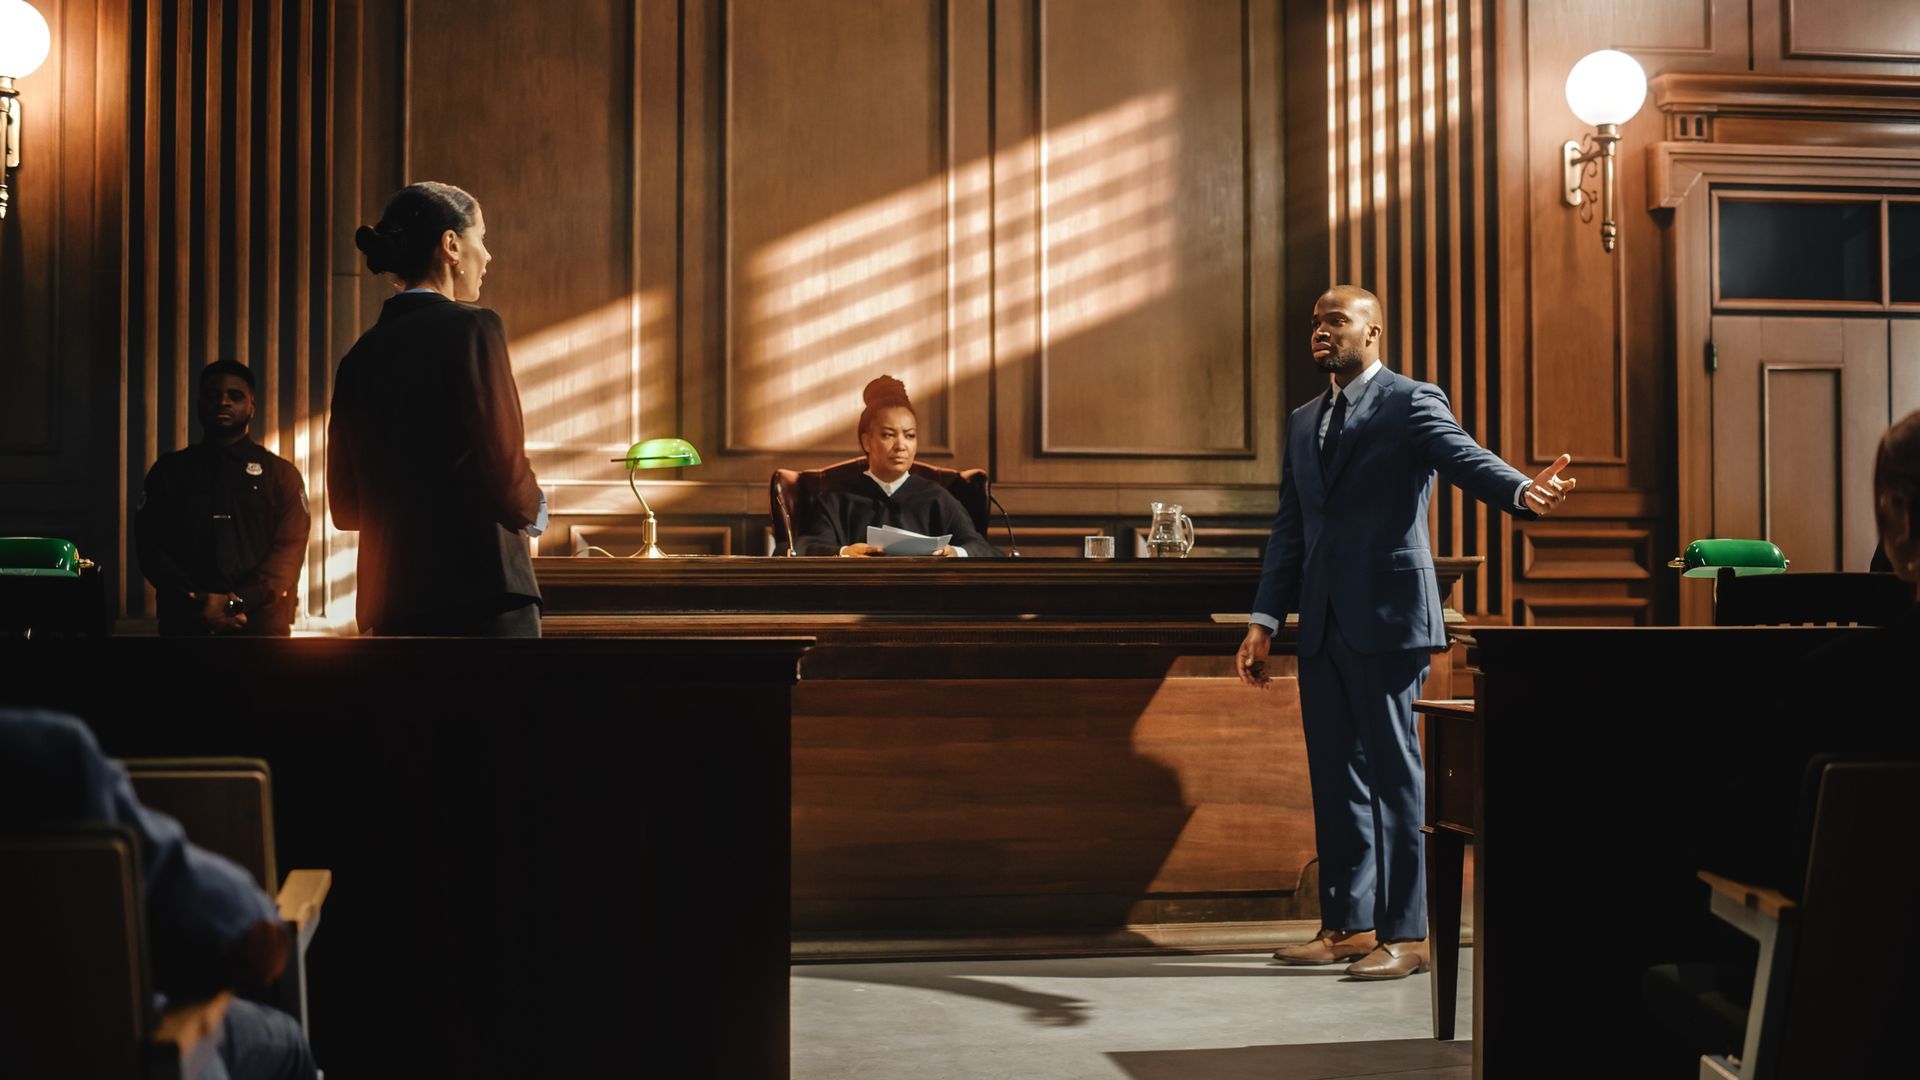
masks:
<svg viewBox="0 0 1920 1080"><path fill-rule="evenodd" d="M1265 953L797 965L795 1080L1465 1080L1430 978L1359 982Z"/></svg>

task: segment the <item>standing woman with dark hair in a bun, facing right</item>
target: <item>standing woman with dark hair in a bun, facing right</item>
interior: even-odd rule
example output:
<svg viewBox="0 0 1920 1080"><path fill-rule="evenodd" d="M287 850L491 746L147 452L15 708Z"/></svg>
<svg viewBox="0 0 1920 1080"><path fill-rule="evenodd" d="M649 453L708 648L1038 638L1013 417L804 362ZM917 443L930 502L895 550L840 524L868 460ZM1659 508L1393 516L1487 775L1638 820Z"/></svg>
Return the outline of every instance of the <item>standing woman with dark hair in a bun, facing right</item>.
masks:
<svg viewBox="0 0 1920 1080"><path fill-rule="evenodd" d="M507 334L474 306L492 261L480 204L409 184L353 244L397 290L340 361L326 427L334 525L361 534L361 630L538 638L541 498Z"/></svg>

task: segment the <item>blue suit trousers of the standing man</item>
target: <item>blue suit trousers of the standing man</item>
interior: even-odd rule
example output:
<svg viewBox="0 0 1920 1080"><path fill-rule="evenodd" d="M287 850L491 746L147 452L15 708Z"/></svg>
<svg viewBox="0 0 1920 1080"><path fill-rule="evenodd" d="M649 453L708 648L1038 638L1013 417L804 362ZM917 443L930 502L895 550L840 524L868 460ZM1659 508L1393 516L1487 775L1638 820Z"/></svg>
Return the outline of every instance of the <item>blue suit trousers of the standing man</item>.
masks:
<svg viewBox="0 0 1920 1080"><path fill-rule="evenodd" d="M1427 936L1427 773L1413 700L1428 667L1427 650L1356 651L1331 615L1323 648L1300 657L1321 926L1371 928L1382 942Z"/></svg>

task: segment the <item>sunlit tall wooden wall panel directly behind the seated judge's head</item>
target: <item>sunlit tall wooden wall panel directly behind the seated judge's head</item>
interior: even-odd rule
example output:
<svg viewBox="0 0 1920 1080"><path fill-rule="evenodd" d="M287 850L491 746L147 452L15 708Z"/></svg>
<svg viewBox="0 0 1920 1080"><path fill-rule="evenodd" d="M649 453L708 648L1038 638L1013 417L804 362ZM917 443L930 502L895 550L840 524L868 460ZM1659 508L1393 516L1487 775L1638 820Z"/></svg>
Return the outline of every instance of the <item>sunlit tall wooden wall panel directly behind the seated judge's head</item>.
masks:
<svg viewBox="0 0 1920 1080"><path fill-rule="evenodd" d="M991 465L987 10L685 8L670 284L682 430L710 454L682 505L762 515L774 467L858 454L881 373L925 457Z"/></svg>

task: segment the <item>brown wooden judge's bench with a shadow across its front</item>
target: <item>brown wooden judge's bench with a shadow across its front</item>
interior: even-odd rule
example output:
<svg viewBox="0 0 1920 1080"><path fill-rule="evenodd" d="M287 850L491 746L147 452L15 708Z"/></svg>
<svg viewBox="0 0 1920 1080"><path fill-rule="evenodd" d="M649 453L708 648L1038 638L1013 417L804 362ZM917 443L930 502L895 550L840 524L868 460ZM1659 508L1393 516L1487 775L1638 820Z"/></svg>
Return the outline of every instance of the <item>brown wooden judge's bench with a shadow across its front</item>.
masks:
<svg viewBox="0 0 1920 1080"><path fill-rule="evenodd" d="M1256 694L1244 615L1213 617L1246 611L1254 559L534 565L553 636L818 640L793 692L801 955L1273 947L1319 919L1292 632Z"/></svg>

